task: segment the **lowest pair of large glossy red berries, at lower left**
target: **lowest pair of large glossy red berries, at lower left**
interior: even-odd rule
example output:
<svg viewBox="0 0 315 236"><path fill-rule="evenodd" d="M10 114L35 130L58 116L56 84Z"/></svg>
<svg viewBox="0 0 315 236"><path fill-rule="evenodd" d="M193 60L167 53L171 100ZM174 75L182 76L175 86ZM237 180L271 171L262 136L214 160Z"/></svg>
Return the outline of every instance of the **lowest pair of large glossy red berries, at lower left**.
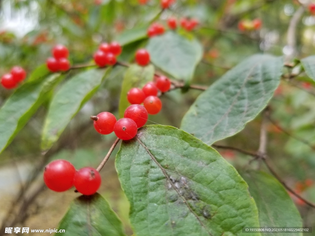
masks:
<svg viewBox="0 0 315 236"><path fill-rule="evenodd" d="M54 160L44 169L44 182L56 192L74 187L84 195L95 194L101 184L100 173L92 167L83 167L76 171L67 160Z"/></svg>

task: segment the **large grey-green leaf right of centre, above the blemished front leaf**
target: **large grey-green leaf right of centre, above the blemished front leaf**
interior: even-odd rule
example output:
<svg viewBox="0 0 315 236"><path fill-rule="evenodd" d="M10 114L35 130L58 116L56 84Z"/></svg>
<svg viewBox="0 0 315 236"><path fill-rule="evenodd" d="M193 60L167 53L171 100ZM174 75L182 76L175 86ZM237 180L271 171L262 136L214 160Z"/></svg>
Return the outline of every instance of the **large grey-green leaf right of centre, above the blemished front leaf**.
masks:
<svg viewBox="0 0 315 236"><path fill-rule="evenodd" d="M201 93L181 128L207 144L241 131L268 104L282 74L282 58L253 55Z"/></svg>

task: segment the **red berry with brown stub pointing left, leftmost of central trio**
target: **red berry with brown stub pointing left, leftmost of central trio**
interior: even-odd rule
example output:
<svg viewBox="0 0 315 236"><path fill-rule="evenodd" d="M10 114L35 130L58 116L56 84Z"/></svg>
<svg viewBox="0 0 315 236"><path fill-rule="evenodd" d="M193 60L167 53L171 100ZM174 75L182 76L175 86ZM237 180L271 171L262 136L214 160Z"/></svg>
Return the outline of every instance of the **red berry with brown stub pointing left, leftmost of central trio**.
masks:
<svg viewBox="0 0 315 236"><path fill-rule="evenodd" d="M116 124L116 117L107 111L101 112L97 115L97 121L94 121L94 128L100 134L110 134L114 131Z"/></svg>

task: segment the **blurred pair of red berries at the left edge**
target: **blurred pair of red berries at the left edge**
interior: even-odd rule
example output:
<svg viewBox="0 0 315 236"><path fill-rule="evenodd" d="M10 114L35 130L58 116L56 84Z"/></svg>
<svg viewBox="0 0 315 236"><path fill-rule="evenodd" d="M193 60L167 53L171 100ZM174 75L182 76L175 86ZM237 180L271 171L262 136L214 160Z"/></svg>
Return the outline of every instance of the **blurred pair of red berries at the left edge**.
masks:
<svg viewBox="0 0 315 236"><path fill-rule="evenodd" d="M26 78L26 71L20 66L14 66L10 73L4 74L1 77L1 84L6 89L12 89L17 84Z"/></svg>

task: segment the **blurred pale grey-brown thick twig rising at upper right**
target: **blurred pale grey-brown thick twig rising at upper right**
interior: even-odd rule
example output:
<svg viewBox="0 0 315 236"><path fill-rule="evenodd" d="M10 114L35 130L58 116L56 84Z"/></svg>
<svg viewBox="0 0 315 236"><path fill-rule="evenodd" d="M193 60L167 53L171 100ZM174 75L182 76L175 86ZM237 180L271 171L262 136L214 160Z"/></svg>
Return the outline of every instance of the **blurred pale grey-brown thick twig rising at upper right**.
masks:
<svg viewBox="0 0 315 236"><path fill-rule="evenodd" d="M292 53L289 53L286 56L286 62L289 62L296 54L296 26L301 19L303 13L305 11L305 7L302 5L299 9L294 13L290 20L288 33L287 33L287 46L289 46L289 50L292 50Z"/></svg>

